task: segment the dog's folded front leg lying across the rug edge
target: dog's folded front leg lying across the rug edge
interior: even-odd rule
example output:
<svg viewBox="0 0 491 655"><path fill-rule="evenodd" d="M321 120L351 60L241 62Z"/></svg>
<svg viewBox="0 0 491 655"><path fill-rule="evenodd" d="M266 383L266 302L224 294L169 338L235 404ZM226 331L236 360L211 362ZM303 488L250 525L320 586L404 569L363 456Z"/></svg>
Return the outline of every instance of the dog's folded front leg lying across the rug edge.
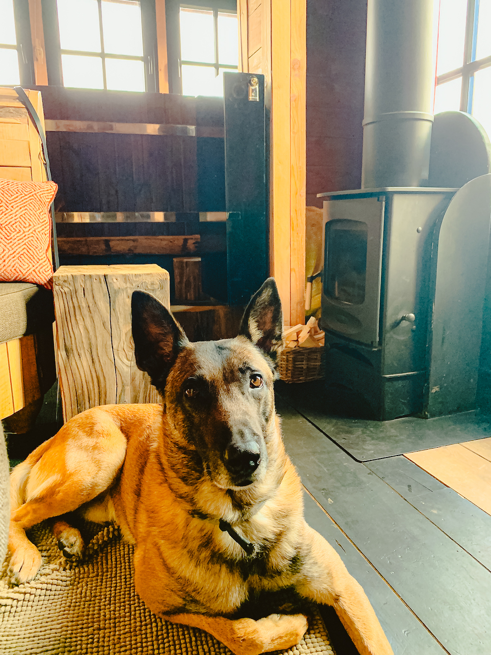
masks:
<svg viewBox="0 0 491 655"><path fill-rule="evenodd" d="M169 614L162 618L209 632L235 655L286 650L299 643L308 627L303 614L271 614L257 621L204 614Z"/></svg>

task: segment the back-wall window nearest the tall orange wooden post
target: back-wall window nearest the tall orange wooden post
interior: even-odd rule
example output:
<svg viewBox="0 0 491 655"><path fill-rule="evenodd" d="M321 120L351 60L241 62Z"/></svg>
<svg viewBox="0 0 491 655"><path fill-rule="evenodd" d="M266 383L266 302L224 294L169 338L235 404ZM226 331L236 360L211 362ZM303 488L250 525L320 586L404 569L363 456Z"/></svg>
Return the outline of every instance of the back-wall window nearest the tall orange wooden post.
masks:
<svg viewBox="0 0 491 655"><path fill-rule="evenodd" d="M223 72L238 69L236 2L168 0L166 14L171 92L223 96Z"/></svg>

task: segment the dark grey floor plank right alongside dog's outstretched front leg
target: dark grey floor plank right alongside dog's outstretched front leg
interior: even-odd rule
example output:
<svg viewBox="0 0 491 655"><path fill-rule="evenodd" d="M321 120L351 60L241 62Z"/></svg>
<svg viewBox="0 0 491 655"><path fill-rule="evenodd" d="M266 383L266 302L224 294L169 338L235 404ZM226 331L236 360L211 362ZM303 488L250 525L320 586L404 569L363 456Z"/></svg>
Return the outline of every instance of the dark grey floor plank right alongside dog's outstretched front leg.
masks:
<svg viewBox="0 0 491 655"><path fill-rule="evenodd" d="M365 589L394 655L443 655L442 646L308 493L304 495L304 504L307 523L335 548L348 571ZM326 624L329 629L328 618Z"/></svg>

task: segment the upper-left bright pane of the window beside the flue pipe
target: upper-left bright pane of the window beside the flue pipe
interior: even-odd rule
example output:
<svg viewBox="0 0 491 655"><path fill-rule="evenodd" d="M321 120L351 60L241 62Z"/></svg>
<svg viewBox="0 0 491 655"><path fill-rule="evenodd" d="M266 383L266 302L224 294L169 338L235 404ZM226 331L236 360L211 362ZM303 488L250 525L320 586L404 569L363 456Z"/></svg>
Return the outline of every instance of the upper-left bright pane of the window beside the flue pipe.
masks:
<svg viewBox="0 0 491 655"><path fill-rule="evenodd" d="M437 75L464 64L467 0L441 0L438 28Z"/></svg>

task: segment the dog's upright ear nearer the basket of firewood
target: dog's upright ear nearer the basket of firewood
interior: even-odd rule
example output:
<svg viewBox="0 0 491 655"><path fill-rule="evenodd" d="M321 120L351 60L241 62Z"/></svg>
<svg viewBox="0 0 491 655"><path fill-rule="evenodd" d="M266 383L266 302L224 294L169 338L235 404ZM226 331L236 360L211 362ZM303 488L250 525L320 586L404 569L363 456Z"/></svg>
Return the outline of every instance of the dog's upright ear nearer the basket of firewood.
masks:
<svg viewBox="0 0 491 655"><path fill-rule="evenodd" d="M250 339L276 364L283 350L283 313L274 278L268 278L251 298L239 334Z"/></svg>

